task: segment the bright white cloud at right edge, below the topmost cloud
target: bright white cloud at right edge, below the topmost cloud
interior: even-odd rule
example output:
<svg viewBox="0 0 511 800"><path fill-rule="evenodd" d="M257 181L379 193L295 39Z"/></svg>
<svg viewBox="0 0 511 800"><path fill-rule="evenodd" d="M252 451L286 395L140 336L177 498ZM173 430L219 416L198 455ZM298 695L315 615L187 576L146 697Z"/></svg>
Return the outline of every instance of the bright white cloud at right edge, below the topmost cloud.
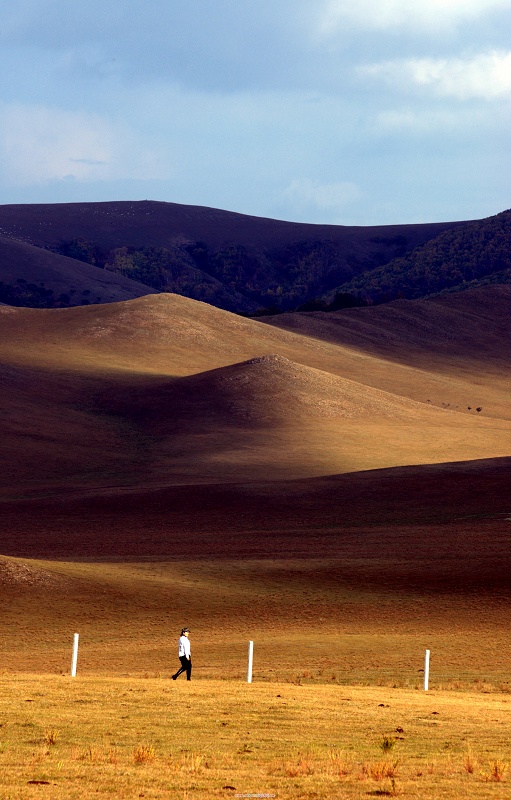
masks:
<svg viewBox="0 0 511 800"><path fill-rule="evenodd" d="M511 93L511 52L480 53L472 58L412 58L360 68L402 89L422 87L440 97L492 100Z"/></svg>

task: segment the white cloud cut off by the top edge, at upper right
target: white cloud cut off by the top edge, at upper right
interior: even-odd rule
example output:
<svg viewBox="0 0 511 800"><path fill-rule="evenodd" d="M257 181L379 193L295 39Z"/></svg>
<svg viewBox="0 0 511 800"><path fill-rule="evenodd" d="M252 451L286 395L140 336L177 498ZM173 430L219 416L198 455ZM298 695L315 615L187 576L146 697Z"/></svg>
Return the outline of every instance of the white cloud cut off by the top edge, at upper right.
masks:
<svg viewBox="0 0 511 800"><path fill-rule="evenodd" d="M452 28L508 6L507 0L327 0L319 31L328 36L346 25L355 25L382 30L408 28L420 33Z"/></svg>

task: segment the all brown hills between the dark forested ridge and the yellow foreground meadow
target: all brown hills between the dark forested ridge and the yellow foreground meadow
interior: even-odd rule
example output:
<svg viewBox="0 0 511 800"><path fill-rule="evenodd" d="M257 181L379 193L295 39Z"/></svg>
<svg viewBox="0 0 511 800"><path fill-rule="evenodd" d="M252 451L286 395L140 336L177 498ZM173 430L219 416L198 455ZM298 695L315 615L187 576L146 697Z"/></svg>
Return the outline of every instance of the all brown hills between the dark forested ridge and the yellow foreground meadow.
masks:
<svg viewBox="0 0 511 800"><path fill-rule="evenodd" d="M68 670L80 630L85 671L168 671L185 622L199 677L239 679L256 638L267 680L401 680L429 646L497 685L510 292L1 306L1 668Z"/></svg>

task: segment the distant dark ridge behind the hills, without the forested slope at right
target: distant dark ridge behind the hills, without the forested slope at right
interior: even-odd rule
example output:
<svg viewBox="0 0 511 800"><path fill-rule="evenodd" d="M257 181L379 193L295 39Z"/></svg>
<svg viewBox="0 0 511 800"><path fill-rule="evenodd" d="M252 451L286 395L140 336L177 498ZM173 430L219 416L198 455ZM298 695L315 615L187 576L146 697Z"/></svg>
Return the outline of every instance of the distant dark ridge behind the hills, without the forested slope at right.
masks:
<svg viewBox="0 0 511 800"><path fill-rule="evenodd" d="M174 292L238 313L292 310L462 225L312 225L152 201L4 205L0 302L39 307L110 302L106 293L78 281L76 270L86 262L110 285L121 277L134 281L133 297L146 286L148 293ZM16 263L19 274L6 271L15 242L32 248L30 277L23 259ZM39 251L45 255L36 275ZM58 286L49 275L53 255L70 259L67 287L62 261ZM99 279L89 271L87 280ZM46 301L40 289L51 293ZM124 290L129 291L126 284Z"/></svg>

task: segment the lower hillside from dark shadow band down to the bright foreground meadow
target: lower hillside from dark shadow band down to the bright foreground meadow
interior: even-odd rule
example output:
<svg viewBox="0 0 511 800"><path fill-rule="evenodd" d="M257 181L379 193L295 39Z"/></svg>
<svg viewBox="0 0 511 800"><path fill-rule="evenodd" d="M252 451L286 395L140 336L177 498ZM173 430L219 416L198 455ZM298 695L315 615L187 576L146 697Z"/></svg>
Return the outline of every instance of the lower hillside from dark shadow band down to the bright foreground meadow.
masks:
<svg viewBox="0 0 511 800"><path fill-rule="evenodd" d="M1 505L9 671L509 686L509 459ZM320 633L318 640L318 632ZM467 658L467 652L470 655ZM304 674L305 673L305 674Z"/></svg>

